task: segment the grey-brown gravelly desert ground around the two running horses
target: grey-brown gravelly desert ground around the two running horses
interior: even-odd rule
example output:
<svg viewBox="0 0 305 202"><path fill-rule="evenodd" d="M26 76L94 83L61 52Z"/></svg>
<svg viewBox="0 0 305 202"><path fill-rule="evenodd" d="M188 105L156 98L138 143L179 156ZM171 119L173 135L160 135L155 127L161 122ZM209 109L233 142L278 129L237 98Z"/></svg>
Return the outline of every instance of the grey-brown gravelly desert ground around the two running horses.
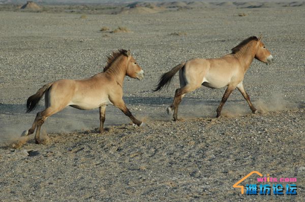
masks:
<svg viewBox="0 0 305 202"><path fill-rule="evenodd" d="M1 8L0 201L304 200L302 4L85 16ZM100 31L104 26L109 31ZM130 32L110 32L118 26ZM178 78L152 92L162 73L194 57L228 54L260 34L275 62L255 60L244 80L259 114L251 114L235 90L216 119L225 89L202 87L182 100L180 121L171 121L165 108ZM121 48L130 49L145 72L144 80L124 83L127 106L145 127L109 106L107 132L99 134L98 110L67 108L43 125L45 144L30 136L21 148L10 147L43 109L42 100L25 114L28 96L50 81L101 72L106 56ZM240 194L232 185L252 171L297 178L298 195ZM256 176L246 183L256 183Z"/></svg>

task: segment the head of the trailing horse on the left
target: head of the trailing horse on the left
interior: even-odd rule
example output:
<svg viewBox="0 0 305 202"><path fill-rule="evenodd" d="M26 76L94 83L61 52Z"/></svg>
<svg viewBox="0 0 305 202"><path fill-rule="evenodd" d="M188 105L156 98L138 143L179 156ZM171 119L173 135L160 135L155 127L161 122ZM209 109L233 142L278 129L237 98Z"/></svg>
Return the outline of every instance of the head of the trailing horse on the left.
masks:
<svg viewBox="0 0 305 202"><path fill-rule="evenodd" d="M142 80L144 78L144 71L130 54L130 50L126 51L124 55L127 57L126 75L134 79Z"/></svg>

